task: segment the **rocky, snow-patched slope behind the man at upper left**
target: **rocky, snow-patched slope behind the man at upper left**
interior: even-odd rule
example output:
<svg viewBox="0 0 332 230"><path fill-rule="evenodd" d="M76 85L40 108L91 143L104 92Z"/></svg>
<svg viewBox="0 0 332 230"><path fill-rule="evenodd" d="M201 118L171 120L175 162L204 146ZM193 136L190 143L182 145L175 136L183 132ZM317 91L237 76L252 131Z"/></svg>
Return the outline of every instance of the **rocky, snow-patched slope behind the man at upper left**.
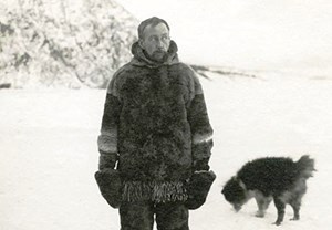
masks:
<svg viewBox="0 0 332 230"><path fill-rule="evenodd" d="M0 3L0 84L98 87L132 59L138 21L114 0Z"/></svg>

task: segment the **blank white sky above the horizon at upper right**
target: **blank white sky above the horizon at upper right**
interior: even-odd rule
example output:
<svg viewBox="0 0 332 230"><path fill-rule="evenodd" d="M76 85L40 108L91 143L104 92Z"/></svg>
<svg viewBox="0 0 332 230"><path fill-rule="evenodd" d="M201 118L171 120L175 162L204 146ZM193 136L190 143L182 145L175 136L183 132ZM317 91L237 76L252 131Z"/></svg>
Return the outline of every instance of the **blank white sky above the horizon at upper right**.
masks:
<svg viewBox="0 0 332 230"><path fill-rule="evenodd" d="M117 0L164 18L187 62L245 69L329 67L331 0Z"/></svg>

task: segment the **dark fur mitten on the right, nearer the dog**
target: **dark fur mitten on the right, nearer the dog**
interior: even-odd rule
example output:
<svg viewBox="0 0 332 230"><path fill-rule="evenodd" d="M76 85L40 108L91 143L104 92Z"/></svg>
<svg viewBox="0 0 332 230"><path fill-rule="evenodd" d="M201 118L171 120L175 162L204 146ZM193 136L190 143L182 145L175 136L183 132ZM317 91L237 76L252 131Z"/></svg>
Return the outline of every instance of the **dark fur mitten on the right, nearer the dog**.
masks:
<svg viewBox="0 0 332 230"><path fill-rule="evenodd" d="M187 184L188 199L185 205L188 209L197 209L206 201L210 187L216 179L214 171L196 171Z"/></svg>

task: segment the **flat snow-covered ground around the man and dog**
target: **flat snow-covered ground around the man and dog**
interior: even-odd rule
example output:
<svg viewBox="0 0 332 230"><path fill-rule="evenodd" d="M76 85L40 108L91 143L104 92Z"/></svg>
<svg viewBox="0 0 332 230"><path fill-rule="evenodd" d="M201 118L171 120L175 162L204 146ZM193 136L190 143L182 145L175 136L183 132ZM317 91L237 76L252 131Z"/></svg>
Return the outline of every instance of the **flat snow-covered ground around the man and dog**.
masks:
<svg viewBox="0 0 332 230"><path fill-rule="evenodd" d="M190 212L191 230L330 229L332 215L332 81L263 74L201 80L212 126L217 179L206 205ZM105 91L0 91L0 229L116 230L93 175ZM235 213L222 185L249 159L310 154L301 220L287 208L281 227L253 217L255 201Z"/></svg>

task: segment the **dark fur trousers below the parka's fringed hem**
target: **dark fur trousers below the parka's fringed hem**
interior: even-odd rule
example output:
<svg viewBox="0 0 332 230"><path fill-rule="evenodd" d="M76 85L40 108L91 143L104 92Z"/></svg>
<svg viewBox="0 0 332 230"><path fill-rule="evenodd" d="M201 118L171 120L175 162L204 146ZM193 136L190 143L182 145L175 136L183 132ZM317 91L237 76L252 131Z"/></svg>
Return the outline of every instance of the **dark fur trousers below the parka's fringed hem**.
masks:
<svg viewBox="0 0 332 230"><path fill-rule="evenodd" d="M183 202L122 202L118 209L121 230L189 230L188 208Z"/></svg>

